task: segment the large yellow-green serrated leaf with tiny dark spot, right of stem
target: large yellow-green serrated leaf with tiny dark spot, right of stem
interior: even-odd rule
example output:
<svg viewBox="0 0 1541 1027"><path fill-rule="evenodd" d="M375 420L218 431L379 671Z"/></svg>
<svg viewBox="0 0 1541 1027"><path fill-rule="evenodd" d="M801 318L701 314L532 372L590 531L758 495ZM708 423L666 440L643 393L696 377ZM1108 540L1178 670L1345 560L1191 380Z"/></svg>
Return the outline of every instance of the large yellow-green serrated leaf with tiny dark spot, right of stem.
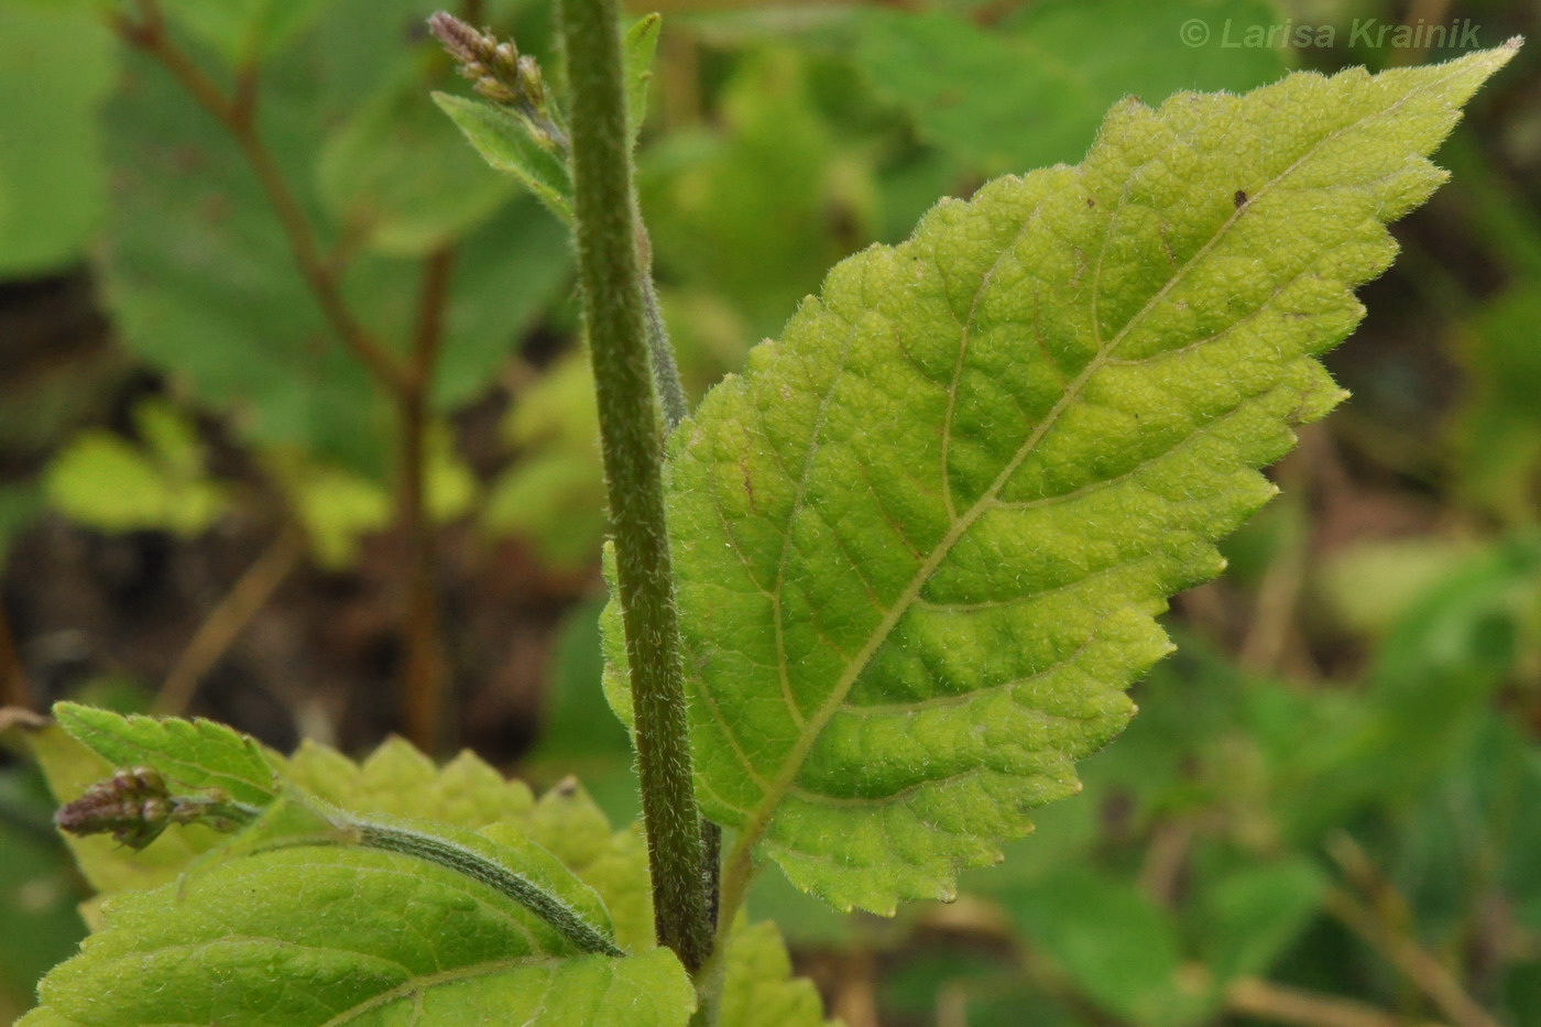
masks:
<svg viewBox="0 0 1541 1027"><path fill-rule="evenodd" d="M1125 102L1082 165L838 265L707 396L669 524L729 881L758 853L841 908L949 897L1079 790L1167 597L1339 399L1314 356L1392 262L1382 222L1513 52Z"/></svg>

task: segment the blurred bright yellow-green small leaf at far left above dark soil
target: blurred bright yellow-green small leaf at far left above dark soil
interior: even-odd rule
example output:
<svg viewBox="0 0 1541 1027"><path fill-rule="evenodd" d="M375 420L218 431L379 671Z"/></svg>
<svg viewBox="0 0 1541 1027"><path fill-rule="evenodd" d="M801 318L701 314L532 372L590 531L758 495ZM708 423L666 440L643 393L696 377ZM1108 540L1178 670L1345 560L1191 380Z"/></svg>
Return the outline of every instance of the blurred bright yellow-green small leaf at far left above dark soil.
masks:
<svg viewBox="0 0 1541 1027"><path fill-rule="evenodd" d="M102 430L77 435L48 467L48 503L102 532L208 530L230 497L206 476L193 424L162 401L140 402L134 423L143 446Z"/></svg>

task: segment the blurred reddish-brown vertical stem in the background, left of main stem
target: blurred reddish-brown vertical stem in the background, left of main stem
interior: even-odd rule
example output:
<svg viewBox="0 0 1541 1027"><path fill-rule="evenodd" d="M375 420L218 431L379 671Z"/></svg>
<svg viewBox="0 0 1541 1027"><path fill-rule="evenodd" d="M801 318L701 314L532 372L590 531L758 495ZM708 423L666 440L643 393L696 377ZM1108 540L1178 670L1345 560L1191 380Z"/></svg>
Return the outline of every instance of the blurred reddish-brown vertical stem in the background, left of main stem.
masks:
<svg viewBox="0 0 1541 1027"><path fill-rule="evenodd" d="M424 753L445 743L447 680L439 634L439 586L435 580L433 523L428 512L428 390L444 339L444 305L455 251L444 248L422 265L418 330L401 396L401 466L398 518L407 549L405 732Z"/></svg>

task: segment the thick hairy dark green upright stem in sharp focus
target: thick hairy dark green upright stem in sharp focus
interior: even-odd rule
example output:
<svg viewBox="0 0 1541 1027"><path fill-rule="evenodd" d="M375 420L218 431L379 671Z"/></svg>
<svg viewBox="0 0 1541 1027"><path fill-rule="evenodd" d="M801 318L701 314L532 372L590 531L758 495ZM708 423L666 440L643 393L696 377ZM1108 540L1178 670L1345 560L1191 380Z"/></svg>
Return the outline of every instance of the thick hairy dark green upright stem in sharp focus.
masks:
<svg viewBox="0 0 1541 1027"><path fill-rule="evenodd" d="M647 352L615 0L564 0L578 271L626 625L636 766L658 941L692 973L710 950L701 817L664 523L658 402Z"/></svg>

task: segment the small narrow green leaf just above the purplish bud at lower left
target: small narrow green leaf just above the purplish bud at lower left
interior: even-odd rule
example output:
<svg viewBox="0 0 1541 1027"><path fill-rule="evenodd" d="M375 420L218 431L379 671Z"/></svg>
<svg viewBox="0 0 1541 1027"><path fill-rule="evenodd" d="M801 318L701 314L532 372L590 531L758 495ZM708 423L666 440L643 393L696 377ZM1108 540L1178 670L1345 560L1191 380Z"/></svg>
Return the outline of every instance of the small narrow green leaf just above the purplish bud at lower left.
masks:
<svg viewBox="0 0 1541 1027"><path fill-rule="evenodd" d="M274 760L213 720L123 717L80 703L55 703L54 717L112 766L151 766L185 788L219 788L257 806L279 794Z"/></svg>

